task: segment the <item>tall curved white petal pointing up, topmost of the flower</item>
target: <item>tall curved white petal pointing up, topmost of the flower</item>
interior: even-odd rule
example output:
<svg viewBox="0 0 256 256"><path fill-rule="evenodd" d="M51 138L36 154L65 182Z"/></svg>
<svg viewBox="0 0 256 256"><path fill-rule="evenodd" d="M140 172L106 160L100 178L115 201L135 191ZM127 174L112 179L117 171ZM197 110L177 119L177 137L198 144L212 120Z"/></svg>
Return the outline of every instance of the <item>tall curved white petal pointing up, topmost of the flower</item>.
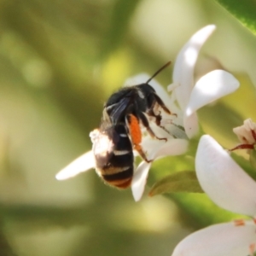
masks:
<svg viewBox="0 0 256 256"><path fill-rule="evenodd" d="M201 46L205 44L215 28L215 25L203 27L189 39L189 42L183 46L177 55L172 79L174 84L180 85L174 89L174 93L180 108L183 110L187 107L190 92L194 86L195 61Z"/></svg>

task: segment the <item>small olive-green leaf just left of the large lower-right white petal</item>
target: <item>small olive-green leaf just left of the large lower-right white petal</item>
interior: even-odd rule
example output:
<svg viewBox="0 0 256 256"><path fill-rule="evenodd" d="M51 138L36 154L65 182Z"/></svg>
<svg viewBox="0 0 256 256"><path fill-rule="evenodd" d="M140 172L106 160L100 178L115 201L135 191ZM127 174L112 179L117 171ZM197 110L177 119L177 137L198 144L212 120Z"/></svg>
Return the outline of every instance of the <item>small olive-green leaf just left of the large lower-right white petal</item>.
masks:
<svg viewBox="0 0 256 256"><path fill-rule="evenodd" d="M203 193L194 171L175 172L162 178L149 191L149 196L164 193Z"/></svg>

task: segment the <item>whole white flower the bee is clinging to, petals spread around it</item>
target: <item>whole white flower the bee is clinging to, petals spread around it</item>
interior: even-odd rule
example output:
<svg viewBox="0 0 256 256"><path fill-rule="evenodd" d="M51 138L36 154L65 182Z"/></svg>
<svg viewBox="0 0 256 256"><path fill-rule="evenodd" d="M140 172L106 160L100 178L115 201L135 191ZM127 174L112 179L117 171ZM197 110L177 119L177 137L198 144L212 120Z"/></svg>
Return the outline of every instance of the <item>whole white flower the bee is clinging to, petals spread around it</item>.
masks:
<svg viewBox="0 0 256 256"><path fill-rule="evenodd" d="M159 127L154 125L154 132L165 134L167 142L152 140L149 137L143 138L142 146L146 148L148 159L155 160L166 155L177 155L186 152L188 147L188 137L193 137L198 131L196 110L207 105L208 103L225 96L239 86L238 81L230 74L223 70L215 70L207 73L197 83L194 83L194 68L197 56L201 46L207 41L207 38L215 30L214 25L206 26L189 39L183 49L177 55L177 61L174 65L173 84L168 86L172 90L172 96L168 96L166 91L156 81L150 81L157 94L165 102L166 106L172 113L177 116L170 116L162 119L162 125L166 130L172 133L172 136L166 135ZM148 76L138 75L133 78L133 84L145 83ZM184 127L184 130L178 127ZM156 131L157 130L157 131ZM93 154L90 152L82 155L79 159L74 160L69 166L65 167L56 175L57 179L66 179L73 177L80 172L85 172L95 166L92 160ZM131 183L131 190L135 201L139 201L143 195L144 186L148 177L148 171L151 163L142 161L134 173Z"/></svg>

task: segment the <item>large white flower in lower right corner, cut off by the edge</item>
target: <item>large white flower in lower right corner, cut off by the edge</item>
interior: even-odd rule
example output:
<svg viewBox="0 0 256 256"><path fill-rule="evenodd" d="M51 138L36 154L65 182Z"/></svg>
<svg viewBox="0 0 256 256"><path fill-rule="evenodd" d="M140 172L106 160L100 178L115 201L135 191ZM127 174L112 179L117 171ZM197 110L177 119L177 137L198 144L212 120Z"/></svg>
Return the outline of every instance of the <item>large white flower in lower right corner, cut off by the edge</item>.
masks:
<svg viewBox="0 0 256 256"><path fill-rule="evenodd" d="M195 170L202 189L219 207L248 216L256 214L256 183L212 137L198 145ZM254 255L256 225L252 221L214 224L187 236L172 256Z"/></svg>

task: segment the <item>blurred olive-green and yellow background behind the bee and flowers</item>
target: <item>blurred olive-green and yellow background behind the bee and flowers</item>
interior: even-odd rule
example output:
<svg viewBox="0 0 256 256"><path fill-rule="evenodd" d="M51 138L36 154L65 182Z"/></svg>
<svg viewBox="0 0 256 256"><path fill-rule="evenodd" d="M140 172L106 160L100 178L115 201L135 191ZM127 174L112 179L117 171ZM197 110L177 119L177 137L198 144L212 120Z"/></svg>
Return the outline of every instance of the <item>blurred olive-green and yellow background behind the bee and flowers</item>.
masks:
<svg viewBox="0 0 256 256"><path fill-rule="evenodd" d="M0 1L1 256L171 255L198 226L165 197L135 203L93 171L55 173L90 149L103 102L125 79L173 63L208 24L218 29L196 73L224 67L256 84L255 38L214 1Z"/></svg>

